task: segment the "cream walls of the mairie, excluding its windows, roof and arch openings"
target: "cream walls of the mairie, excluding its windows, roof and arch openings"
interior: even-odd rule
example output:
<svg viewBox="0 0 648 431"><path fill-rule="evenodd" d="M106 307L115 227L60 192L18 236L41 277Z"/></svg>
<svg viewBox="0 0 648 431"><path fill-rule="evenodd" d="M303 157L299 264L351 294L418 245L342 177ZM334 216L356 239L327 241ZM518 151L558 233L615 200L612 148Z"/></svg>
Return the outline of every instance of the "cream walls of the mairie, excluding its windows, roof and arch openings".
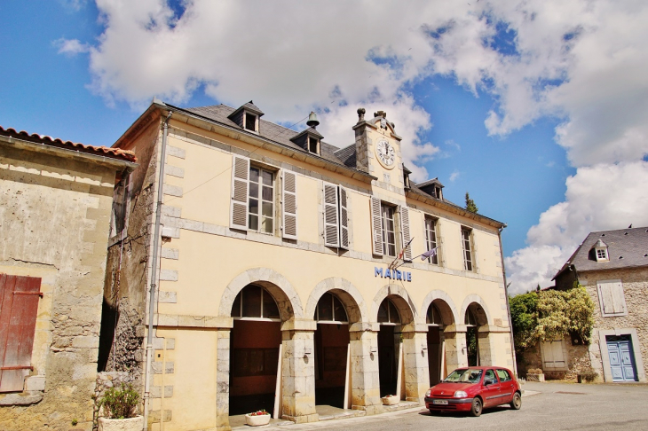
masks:
<svg viewBox="0 0 648 431"><path fill-rule="evenodd" d="M166 159L162 161L161 125L170 111ZM333 359L328 360L342 370L340 375L345 380L340 385L344 386L344 405L349 409L367 414L383 412L381 392L388 389L381 383L384 366L381 368L379 360L383 349L380 335L384 326L377 315L387 300L400 318L399 324L394 324L398 329L391 337L394 353L390 355L394 371L396 364L399 366L395 391L401 400L420 402L430 386L426 315L432 303L443 315L443 376L468 364L468 326L464 321L469 309L478 313L482 364L513 367L498 231L502 223L405 190L401 163L390 171L383 169L376 162L372 145L377 139L389 139L400 160L399 137L391 123L381 126L376 117L353 126L356 151L360 153L358 165L349 168L288 144L278 145L270 137L233 129L235 125L224 125L221 120L208 121L156 101L115 143L115 147L136 152L140 162L130 180L128 227L122 237L111 239L107 263L108 273L121 275L116 295L119 303L113 300L110 307L117 310L119 304L129 304L133 311L129 321L122 321L127 314L122 312L114 325L118 333L126 326L134 327L121 338L118 335L117 343L110 337L102 340L107 350L100 357L107 358L107 370L121 370L130 357L136 357L138 365L131 371L138 375L140 385L144 383L145 326L151 317L147 315L147 291L159 279L152 316L149 429L161 429L160 420L167 431L228 429L236 401L233 390L241 390L242 385L234 382L236 379L265 386L272 380L276 385L274 416L297 423L318 420L317 393L324 380L325 358L321 356L321 324L314 315L324 294L334 295L348 317L348 322L329 322L334 328L344 325L344 332L348 328L348 341L344 341L348 345L330 349ZM270 127L265 121L260 124ZM321 146L325 147L323 143ZM236 158L249 159L251 166L265 169L276 180L273 203L277 228L272 233L231 226ZM161 261L159 271L153 271L154 197L162 162ZM286 173L296 177L296 239L283 238L279 229ZM348 250L325 243L323 184L336 184L346 192ZM413 255L426 250L420 239L424 238L424 217L435 217L439 245L443 247L439 264L420 259L405 263L399 271L411 273L409 281L401 273L399 280L377 276L375 269L382 268L384 276L393 257L375 255L372 250L370 197L400 208L399 216L402 208L407 208L410 228L418 238L412 243ZM461 226L472 232L476 267L472 271L463 269ZM399 246L402 244L399 239ZM115 292L112 279L106 278L107 297ZM250 286L260 286L264 294L272 296L278 317L246 320L233 315L234 303L241 301L241 292ZM276 326L277 332L261 328L264 320ZM248 337L248 348L236 347L242 342L236 338L241 337L236 327L245 322L258 322L258 333L251 334L257 337ZM273 348L279 349L254 347L255 339L275 335L278 346ZM257 364L257 374L241 377L244 361L237 361L236 355L247 354L246 349L256 355L277 351L279 362L274 363L274 374L261 370L273 365L264 359L264 364ZM261 403L257 398L248 399L245 408L249 411L258 408L255 403ZM273 406L266 410L273 410Z"/></svg>

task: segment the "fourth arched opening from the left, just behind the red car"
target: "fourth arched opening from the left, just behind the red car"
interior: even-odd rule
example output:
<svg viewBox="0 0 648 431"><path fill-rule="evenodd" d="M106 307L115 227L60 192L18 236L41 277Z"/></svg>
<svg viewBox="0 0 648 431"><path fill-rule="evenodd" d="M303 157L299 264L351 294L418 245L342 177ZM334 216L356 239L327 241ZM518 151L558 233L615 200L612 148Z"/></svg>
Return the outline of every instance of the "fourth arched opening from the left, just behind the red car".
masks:
<svg viewBox="0 0 648 431"><path fill-rule="evenodd" d="M434 386L444 379L448 372L446 369L445 337L443 330L446 325L452 325L454 323L452 310L450 310L446 302L439 299L434 300L428 307L425 323L428 325L428 371L430 373L430 386Z"/></svg>

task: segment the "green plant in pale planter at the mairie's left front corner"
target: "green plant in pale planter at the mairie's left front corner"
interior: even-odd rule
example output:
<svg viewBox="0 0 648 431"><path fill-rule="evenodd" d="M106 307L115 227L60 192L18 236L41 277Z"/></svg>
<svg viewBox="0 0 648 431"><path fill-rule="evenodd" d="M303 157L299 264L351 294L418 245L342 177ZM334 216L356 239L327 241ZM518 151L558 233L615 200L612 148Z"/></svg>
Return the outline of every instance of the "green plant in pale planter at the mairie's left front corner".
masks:
<svg viewBox="0 0 648 431"><path fill-rule="evenodd" d="M141 430L144 418L136 415L138 404L138 391L130 383L122 383L119 388L107 388L99 399L99 407L103 409L99 431Z"/></svg>

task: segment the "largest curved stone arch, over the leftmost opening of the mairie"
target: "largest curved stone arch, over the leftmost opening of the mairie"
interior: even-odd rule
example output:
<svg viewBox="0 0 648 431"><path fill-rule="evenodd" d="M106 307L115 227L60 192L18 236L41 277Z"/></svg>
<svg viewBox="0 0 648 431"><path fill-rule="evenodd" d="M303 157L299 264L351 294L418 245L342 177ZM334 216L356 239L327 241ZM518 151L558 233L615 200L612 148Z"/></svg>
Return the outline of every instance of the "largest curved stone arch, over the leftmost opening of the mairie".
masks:
<svg viewBox="0 0 648 431"><path fill-rule="evenodd" d="M243 287L248 286L250 283L264 286L273 295L274 300L279 306L282 321L289 320L293 317L304 317L302 302L295 288L290 284L288 279L270 268L252 268L234 277L227 287L225 287L225 292L223 292L220 298L218 316L231 316L232 305L236 295L241 292Z"/></svg>

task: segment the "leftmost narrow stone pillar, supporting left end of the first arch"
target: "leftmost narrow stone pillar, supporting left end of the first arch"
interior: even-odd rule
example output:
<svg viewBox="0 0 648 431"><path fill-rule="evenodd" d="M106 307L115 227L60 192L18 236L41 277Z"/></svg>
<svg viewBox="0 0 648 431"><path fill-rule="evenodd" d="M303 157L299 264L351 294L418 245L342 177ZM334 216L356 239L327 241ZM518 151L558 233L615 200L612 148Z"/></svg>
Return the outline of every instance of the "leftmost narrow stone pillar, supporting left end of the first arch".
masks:
<svg viewBox="0 0 648 431"><path fill-rule="evenodd" d="M216 336L216 429L230 431L230 335L218 329Z"/></svg>

